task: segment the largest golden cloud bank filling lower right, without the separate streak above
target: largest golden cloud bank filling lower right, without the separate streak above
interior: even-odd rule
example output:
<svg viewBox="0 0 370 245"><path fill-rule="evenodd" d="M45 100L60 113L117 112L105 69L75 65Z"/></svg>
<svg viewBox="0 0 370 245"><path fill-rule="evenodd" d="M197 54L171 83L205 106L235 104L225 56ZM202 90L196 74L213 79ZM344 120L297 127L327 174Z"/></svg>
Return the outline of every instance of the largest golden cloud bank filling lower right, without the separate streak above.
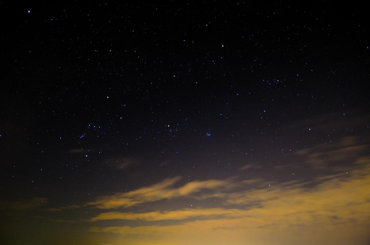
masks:
<svg viewBox="0 0 370 245"><path fill-rule="evenodd" d="M202 241L204 244L284 244L284 241L292 242L291 236L297 234L300 240L296 244L317 244L325 243L325 233L332 241L345 244L349 242L348 239L357 241L358 232L366 234L369 231L370 168L362 166L349 177L336 175L315 187L303 186L292 182L290 185L277 184L273 188L235 192L234 197L232 194L225 195L228 198L225 201L229 203L259 203L249 209L196 208L136 214L102 213L91 221L138 219L177 220L180 223L134 227L95 226L89 230L121 234L125 238L128 235L149 236L159 239L157 243L161 244L195 242L191 237L197 237L198 243ZM321 235L312 235L319 233ZM315 240L315 237L319 239ZM266 241L263 242L263 239Z"/></svg>

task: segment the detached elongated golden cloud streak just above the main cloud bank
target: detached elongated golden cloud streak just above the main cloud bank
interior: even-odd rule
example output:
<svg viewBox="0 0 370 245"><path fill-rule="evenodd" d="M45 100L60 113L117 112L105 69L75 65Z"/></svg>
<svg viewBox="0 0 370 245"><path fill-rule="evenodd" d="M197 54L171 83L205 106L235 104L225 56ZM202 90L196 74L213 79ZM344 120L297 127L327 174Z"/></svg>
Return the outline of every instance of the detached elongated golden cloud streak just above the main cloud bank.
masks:
<svg viewBox="0 0 370 245"><path fill-rule="evenodd" d="M131 207L145 202L184 197L202 189L216 189L227 183L224 180L192 181L181 187L173 188L172 186L180 179L180 177L165 179L149 187L141 187L130 192L118 192L113 195L103 196L95 201L87 202L85 205L102 209Z"/></svg>

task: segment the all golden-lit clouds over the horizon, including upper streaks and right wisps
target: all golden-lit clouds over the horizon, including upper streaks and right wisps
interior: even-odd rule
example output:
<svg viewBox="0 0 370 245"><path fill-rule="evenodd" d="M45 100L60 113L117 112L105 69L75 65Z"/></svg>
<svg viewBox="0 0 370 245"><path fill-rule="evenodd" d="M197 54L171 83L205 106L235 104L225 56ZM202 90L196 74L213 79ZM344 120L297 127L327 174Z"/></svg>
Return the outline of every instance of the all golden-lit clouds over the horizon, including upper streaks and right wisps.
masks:
<svg viewBox="0 0 370 245"><path fill-rule="evenodd" d="M336 144L317 145L297 152L306 166L312 166L313 158L323 158L327 161L320 165L333 170L331 175L317 175L306 181L271 182L268 186L261 179L238 181L234 178L197 181L172 188L179 178L165 179L115 197L129 200L129 205L118 205L122 208L162 200L162 207L167 210L103 212L90 218L89 221L96 222L97 226L90 227L89 231L120 234L127 243L140 243L140 237L150 237L153 244L286 244L287 241L366 244L370 240L364 235L370 234L370 153L367 146L358 138L343 138ZM315 166L313 169L317 169ZM229 187L223 188L226 183ZM243 186L248 188L241 188ZM204 188L209 191L201 194L199 190ZM171 210L171 204L166 204L168 199L181 200L184 196L203 204L218 198L218 207ZM112 196L104 197L94 205L118 207L109 205L111 199ZM137 220L142 224L98 226L100 222L113 219ZM136 240L131 241L132 236Z"/></svg>

